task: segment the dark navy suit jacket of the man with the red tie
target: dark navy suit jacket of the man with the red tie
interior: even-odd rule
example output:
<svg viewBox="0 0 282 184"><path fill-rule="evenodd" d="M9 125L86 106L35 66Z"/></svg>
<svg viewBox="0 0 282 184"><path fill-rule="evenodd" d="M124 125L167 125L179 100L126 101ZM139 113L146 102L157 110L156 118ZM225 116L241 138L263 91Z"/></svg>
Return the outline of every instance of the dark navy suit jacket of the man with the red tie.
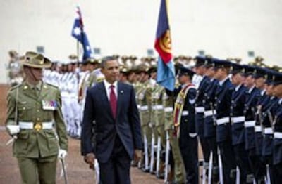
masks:
<svg viewBox="0 0 282 184"><path fill-rule="evenodd" d="M133 86L118 82L116 119L106 96L104 82L87 91L82 122L82 155L93 152L99 162L107 162L119 136L130 158L134 150L142 150L140 118ZM95 121L95 126L93 122ZM92 131L94 129L94 131ZM92 137L95 143L92 143Z"/></svg>

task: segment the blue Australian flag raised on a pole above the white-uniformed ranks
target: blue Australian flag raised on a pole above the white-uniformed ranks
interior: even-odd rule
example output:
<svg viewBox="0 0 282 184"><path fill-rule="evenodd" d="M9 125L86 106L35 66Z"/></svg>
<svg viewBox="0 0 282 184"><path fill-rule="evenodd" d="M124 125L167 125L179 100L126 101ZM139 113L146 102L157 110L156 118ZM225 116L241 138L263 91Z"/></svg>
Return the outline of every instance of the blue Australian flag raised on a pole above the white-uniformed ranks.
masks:
<svg viewBox="0 0 282 184"><path fill-rule="evenodd" d="M76 13L78 13L78 16L77 18L75 18L75 22L73 23L71 36L75 37L75 39L77 39L83 46L82 60L86 60L87 58L93 58L93 53L87 38L87 34L84 32L83 29L82 15L79 7L77 7Z"/></svg>

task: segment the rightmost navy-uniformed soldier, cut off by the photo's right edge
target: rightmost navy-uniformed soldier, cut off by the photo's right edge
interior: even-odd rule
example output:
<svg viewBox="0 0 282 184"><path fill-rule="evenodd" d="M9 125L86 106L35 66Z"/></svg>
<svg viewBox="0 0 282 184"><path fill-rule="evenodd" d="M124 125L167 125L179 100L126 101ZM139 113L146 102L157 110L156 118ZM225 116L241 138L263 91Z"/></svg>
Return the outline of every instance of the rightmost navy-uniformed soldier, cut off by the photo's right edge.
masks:
<svg viewBox="0 0 282 184"><path fill-rule="evenodd" d="M275 74L274 94L278 98L278 107L272 122L274 127L274 183L281 183L282 178L282 73Z"/></svg>

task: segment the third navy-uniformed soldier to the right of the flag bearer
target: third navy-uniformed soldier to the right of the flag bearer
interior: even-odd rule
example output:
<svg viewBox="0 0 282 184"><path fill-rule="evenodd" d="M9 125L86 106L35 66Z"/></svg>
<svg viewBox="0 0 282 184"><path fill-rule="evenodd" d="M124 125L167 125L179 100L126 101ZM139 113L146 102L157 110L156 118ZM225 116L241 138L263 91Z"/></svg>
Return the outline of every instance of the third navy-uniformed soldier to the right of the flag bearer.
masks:
<svg viewBox="0 0 282 184"><path fill-rule="evenodd" d="M215 60L214 65L215 78L219 80L216 87L216 142L221 157L219 162L222 160L222 166L219 168L223 174L220 176L223 176L224 183L235 183L236 165L230 124L230 107L234 88L228 77L231 63L227 60Z"/></svg>

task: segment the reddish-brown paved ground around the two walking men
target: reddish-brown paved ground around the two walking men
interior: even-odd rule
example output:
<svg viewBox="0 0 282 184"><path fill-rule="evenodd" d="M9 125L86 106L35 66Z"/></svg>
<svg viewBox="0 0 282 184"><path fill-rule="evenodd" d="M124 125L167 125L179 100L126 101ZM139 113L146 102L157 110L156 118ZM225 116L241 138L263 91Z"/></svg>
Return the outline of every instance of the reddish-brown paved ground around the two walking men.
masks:
<svg viewBox="0 0 282 184"><path fill-rule="evenodd" d="M0 183L20 183L20 173L18 171L17 161L12 157L12 146L6 146L6 141L10 138L0 126ZM94 171L87 168L80 156L80 141L69 138L69 152L66 157L66 167L68 171L69 183L88 184L94 183ZM61 165L58 164L57 183L64 183L61 176ZM143 173L139 169L131 169L132 183L164 183L164 180L158 180L149 173Z"/></svg>

